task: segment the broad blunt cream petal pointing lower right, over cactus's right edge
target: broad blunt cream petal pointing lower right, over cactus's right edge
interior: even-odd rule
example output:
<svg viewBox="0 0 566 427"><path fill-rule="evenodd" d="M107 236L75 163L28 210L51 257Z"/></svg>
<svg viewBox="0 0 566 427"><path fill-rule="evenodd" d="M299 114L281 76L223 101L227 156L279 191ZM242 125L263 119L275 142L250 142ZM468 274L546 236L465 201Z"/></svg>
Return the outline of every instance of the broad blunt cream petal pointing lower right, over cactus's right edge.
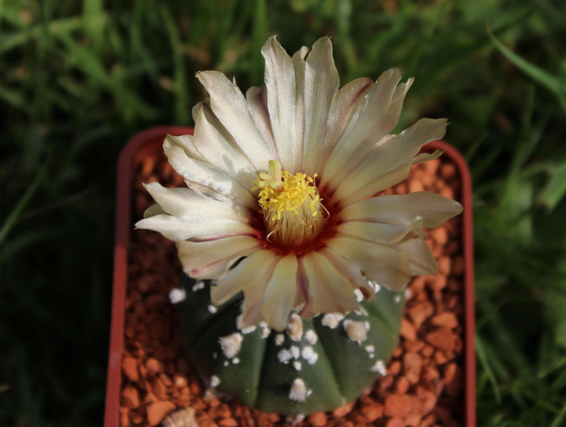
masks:
<svg viewBox="0 0 566 427"><path fill-rule="evenodd" d="M336 237L330 239L327 246L364 272L373 282L392 291L400 291L411 279L408 255L389 245Z"/></svg>

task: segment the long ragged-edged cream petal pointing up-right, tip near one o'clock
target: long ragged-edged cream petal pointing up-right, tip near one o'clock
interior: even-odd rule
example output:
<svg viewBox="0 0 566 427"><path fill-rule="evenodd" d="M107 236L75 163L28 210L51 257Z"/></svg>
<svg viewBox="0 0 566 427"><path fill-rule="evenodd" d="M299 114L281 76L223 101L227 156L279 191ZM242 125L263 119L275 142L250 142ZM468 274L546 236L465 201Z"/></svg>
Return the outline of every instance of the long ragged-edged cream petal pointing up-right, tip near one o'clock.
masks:
<svg viewBox="0 0 566 427"><path fill-rule="evenodd" d="M365 155L372 149L374 143L367 139L371 136L372 141L379 141L391 132L387 118L399 80L401 71L388 69L356 102L353 116L324 167L321 186L336 187L340 183L336 175L350 172L350 168L344 171L344 166L349 165L351 156Z"/></svg>

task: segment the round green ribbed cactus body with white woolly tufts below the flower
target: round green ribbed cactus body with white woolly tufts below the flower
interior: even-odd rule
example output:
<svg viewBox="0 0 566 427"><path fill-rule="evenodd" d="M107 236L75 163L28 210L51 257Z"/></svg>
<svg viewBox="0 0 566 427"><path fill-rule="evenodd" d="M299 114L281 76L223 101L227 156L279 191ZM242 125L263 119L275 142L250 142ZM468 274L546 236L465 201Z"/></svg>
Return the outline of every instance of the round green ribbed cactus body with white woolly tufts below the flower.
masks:
<svg viewBox="0 0 566 427"><path fill-rule="evenodd" d="M178 304L189 358L212 387L249 407L280 414L330 411L384 374L399 336L404 293L381 288L349 315L291 315L287 331L238 329L240 299L219 307L210 283L183 277Z"/></svg>

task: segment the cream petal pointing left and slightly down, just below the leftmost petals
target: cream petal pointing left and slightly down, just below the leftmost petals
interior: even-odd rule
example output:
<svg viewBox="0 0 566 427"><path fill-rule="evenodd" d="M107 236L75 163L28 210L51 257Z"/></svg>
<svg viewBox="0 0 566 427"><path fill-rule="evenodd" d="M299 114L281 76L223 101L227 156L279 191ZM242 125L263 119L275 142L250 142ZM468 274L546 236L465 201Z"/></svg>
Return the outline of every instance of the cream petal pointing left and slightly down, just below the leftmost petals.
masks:
<svg viewBox="0 0 566 427"><path fill-rule="evenodd" d="M209 241L183 240L177 242L177 254L183 265L183 272L186 272L191 277L204 279L217 278L233 262L260 249L259 240L249 236L234 236ZM225 266L223 267L224 271L221 271L214 277L203 276L201 271L208 270L210 265L218 262Z"/></svg>

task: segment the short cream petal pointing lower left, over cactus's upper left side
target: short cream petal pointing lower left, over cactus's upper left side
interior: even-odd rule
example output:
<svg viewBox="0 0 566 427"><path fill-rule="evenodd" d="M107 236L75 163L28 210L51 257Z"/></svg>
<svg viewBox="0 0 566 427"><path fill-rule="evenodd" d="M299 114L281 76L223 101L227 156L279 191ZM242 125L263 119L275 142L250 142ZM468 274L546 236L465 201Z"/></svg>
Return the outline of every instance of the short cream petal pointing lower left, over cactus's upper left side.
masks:
<svg viewBox="0 0 566 427"><path fill-rule="evenodd" d="M210 288L213 303L225 304L240 292L246 293L247 290L251 290L250 295L255 295L260 301L263 300L267 281L279 260L275 251L257 251L242 260ZM244 304L246 305L246 301L251 303L252 298L253 296L248 298L246 294Z"/></svg>

